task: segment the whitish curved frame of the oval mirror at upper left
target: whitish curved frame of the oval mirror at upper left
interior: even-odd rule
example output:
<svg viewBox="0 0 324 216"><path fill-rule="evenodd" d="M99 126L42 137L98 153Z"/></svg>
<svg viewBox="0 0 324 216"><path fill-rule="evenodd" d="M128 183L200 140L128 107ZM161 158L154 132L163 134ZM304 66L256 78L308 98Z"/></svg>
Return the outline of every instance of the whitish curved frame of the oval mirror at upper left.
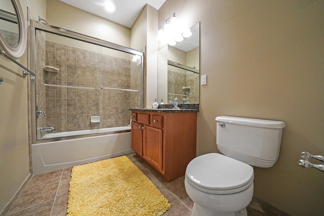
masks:
<svg viewBox="0 0 324 216"><path fill-rule="evenodd" d="M18 44L15 48L10 47L7 42L4 40L3 36L0 35L0 48L6 52L6 54L14 59L20 58L26 50L27 46L27 30L24 20L23 11L20 5L19 0L11 0L13 7L15 8L18 20L19 28L19 39Z"/></svg>

